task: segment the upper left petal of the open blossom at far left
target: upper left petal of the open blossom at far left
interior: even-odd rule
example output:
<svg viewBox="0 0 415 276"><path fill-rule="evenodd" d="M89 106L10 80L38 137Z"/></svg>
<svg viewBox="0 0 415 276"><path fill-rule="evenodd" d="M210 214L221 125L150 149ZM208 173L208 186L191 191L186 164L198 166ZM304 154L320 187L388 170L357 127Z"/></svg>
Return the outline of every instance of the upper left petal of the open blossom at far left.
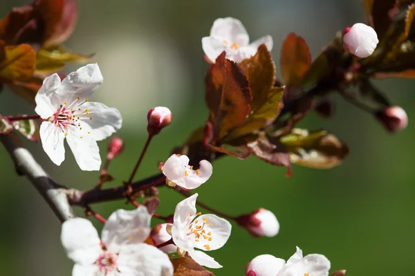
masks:
<svg viewBox="0 0 415 276"><path fill-rule="evenodd" d="M57 74L46 77L42 87L37 91L35 96L35 112L43 119L48 119L59 108L59 99L57 90L61 86L61 80Z"/></svg>

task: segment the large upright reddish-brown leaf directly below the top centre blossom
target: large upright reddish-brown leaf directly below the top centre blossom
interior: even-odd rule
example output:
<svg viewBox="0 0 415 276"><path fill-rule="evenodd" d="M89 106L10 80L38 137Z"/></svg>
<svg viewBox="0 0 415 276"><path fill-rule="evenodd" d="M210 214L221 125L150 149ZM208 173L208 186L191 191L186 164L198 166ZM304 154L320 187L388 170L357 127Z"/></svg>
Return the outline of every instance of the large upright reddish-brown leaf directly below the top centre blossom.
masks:
<svg viewBox="0 0 415 276"><path fill-rule="evenodd" d="M252 94L240 66L225 59L223 52L205 77L205 100L210 109L214 138L221 139L228 131L240 126L250 111Z"/></svg>

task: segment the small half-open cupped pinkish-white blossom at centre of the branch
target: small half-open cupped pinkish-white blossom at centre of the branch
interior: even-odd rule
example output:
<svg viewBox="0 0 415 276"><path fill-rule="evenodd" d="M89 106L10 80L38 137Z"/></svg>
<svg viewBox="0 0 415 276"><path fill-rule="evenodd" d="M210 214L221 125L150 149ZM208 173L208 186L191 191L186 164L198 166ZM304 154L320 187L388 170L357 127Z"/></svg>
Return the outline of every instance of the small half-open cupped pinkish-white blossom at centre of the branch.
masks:
<svg viewBox="0 0 415 276"><path fill-rule="evenodd" d="M200 161L199 169L193 170L186 155L172 155L163 166L163 174L167 179L186 190L197 188L208 181L212 171L212 164L207 160Z"/></svg>

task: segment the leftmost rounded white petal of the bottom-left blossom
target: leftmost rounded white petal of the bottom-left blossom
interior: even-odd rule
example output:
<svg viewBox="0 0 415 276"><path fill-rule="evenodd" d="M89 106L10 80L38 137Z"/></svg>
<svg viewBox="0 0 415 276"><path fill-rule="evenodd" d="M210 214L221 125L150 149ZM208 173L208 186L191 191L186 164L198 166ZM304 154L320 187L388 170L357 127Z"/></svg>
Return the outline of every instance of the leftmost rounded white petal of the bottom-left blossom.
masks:
<svg viewBox="0 0 415 276"><path fill-rule="evenodd" d="M93 264L102 249L98 232L88 219L75 217L62 224L61 242L77 264Z"/></svg>

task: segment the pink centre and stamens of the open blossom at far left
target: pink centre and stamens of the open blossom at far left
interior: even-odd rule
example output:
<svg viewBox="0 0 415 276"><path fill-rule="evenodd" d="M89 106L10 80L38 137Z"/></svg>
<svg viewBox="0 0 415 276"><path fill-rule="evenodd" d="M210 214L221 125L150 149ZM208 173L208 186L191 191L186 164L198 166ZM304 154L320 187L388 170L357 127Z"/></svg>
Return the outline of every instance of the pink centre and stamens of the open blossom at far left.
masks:
<svg viewBox="0 0 415 276"><path fill-rule="evenodd" d="M84 110L80 108L80 105L86 101L88 101L88 99L85 98L84 100L81 100L80 97L77 97L77 99L70 104L65 101L60 105L56 112L53 113L53 116L47 119L47 121L55 124L65 132L65 135L68 135L67 130L69 127L75 127L82 130L81 118L87 119L89 117L90 120L92 119L92 117L89 116L88 108L85 108ZM88 131L88 134L91 134L91 132Z"/></svg>

